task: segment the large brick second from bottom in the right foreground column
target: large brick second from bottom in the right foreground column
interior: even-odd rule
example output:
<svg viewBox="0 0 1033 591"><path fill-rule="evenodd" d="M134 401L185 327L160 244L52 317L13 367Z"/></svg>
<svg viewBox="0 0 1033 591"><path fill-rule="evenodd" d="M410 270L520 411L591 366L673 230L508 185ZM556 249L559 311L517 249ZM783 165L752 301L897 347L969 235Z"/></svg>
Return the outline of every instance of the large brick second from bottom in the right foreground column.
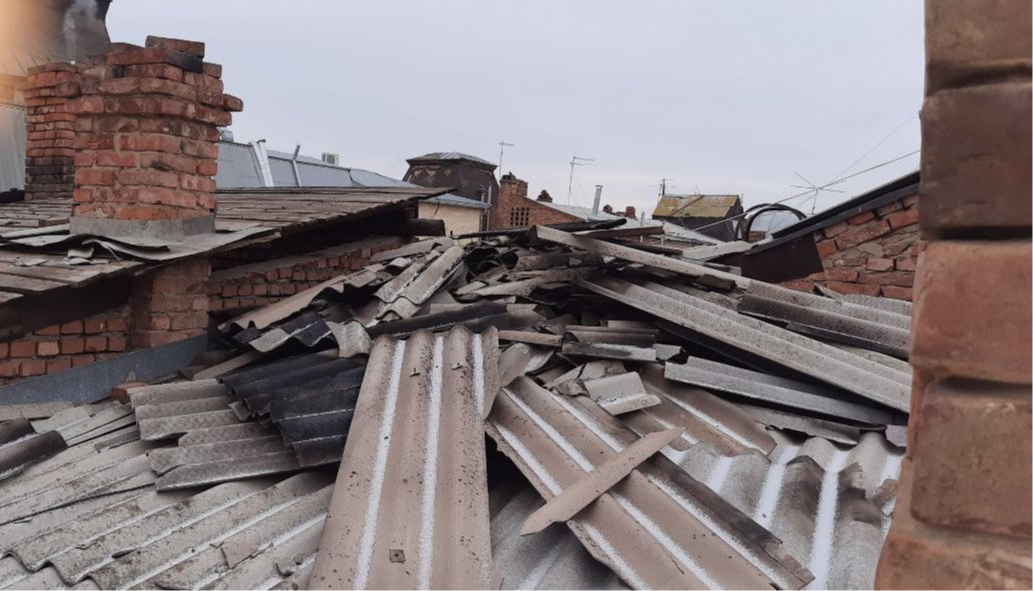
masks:
<svg viewBox="0 0 1033 591"><path fill-rule="evenodd" d="M922 428L912 452L912 515L969 531L1033 538L1031 386L942 380L922 394Z"/></svg>

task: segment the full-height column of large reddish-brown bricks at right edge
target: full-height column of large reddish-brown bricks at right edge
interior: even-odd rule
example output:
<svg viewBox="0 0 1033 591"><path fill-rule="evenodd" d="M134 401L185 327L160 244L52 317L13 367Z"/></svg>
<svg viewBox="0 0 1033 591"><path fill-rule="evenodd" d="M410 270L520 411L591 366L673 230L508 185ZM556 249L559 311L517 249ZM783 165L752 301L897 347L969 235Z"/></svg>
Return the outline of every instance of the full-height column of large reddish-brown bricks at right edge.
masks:
<svg viewBox="0 0 1033 591"><path fill-rule="evenodd" d="M927 0L908 460L879 589L1033 587L1033 4Z"/></svg>

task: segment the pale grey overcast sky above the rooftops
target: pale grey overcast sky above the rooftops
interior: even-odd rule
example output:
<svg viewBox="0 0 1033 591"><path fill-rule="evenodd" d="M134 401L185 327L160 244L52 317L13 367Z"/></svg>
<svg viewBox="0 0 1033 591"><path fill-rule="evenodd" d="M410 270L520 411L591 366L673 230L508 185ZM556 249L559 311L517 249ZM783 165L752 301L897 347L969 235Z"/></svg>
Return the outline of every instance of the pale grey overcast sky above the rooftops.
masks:
<svg viewBox="0 0 1033 591"><path fill-rule="evenodd" d="M427 152L497 161L505 139L504 168L560 203L575 155L595 162L572 203L601 184L651 212L663 177L751 206L799 193L797 173L822 185L919 148L918 0L123 0L108 28L206 41L245 101L239 141L401 178Z"/></svg>

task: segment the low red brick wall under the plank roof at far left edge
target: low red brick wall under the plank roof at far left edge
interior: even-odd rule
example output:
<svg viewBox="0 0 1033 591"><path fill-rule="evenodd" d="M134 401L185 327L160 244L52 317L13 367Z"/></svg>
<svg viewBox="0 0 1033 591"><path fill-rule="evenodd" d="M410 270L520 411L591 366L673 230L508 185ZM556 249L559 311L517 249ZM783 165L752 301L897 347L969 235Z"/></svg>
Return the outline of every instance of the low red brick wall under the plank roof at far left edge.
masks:
<svg viewBox="0 0 1033 591"><path fill-rule="evenodd" d="M0 384L90 365L128 348L129 307L121 306L0 343Z"/></svg>

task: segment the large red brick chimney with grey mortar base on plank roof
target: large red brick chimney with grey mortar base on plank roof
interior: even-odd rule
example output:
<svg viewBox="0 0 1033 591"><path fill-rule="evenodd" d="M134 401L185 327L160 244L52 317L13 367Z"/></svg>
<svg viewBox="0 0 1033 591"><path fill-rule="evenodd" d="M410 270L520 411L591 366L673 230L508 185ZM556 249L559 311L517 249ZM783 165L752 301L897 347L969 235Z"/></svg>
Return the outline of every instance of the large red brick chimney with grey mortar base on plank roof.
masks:
<svg viewBox="0 0 1033 591"><path fill-rule="evenodd" d="M80 94L66 104L76 131L72 234L181 242L214 230L219 127L243 102L223 94L222 67L204 56L194 41L117 44L56 91Z"/></svg>

